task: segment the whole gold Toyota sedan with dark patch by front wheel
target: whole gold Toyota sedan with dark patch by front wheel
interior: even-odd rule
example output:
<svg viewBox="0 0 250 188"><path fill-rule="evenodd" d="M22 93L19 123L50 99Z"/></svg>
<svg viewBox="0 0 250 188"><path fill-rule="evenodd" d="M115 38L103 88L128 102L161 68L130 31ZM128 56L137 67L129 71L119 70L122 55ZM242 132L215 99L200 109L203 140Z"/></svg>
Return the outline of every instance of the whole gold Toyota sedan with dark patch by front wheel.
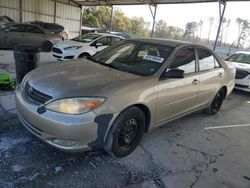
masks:
<svg viewBox="0 0 250 188"><path fill-rule="evenodd" d="M16 104L23 125L56 148L122 157L155 127L201 109L216 114L234 77L204 46L124 40L90 59L32 71Z"/></svg>

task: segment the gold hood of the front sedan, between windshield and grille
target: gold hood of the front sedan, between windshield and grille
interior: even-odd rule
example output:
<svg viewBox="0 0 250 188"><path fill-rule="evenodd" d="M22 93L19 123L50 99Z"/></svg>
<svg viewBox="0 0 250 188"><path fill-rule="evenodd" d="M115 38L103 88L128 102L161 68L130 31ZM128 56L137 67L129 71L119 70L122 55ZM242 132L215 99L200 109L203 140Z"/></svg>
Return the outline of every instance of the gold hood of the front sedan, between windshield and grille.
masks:
<svg viewBox="0 0 250 188"><path fill-rule="evenodd" d="M45 65L28 74L25 81L54 99L105 96L143 77L111 69L89 60Z"/></svg>

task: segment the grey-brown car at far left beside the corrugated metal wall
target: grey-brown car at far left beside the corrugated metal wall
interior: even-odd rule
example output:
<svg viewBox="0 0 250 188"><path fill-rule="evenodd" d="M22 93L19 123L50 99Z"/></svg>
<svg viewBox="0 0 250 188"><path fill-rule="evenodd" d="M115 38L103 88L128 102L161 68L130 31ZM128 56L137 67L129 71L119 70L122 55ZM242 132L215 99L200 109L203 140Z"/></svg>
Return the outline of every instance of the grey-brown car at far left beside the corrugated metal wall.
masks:
<svg viewBox="0 0 250 188"><path fill-rule="evenodd" d="M50 52L53 45L62 41L62 37L36 25L9 23L1 27L0 40L1 48L23 45L42 48L43 51Z"/></svg>

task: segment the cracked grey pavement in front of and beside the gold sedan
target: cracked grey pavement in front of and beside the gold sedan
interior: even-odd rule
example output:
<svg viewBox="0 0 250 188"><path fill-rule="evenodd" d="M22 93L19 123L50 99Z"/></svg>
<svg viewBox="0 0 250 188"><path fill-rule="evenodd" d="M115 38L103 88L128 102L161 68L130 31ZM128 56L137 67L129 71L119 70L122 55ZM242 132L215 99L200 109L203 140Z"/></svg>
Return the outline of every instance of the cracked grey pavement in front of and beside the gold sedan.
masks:
<svg viewBox="0 0 250 188"><path fill-rule="evenodd" d="M249 124L248 93L235 91L215 116L194 113L145 134L125 158L58 151L6 109L13 93L0 99L0 187L250 188L250 127L204 129Z"/></svg>

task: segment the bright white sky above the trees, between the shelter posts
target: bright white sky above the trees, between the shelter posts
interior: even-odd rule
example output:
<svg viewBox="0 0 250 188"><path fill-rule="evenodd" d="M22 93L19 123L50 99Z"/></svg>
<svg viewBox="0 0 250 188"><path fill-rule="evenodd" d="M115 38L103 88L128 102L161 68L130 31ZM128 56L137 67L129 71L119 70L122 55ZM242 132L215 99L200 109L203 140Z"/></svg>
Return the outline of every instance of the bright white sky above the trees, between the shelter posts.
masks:
<svg viewBox="0 0 250 188"><path fill-rule="evenodd" d="M152 23L152 15L148 5L115 6L114 9L121 9L130 18L133 16L143 17L146 21ZM204 22L202 38L208 38L209 17L215 18L210 36L210 39L215 39L219 23L218 3L158 5L156 21L162 19L168 25L185 29L187 22L202 20ZM236 41L238 37L238 25L235 22L238 17L250 20L250 2L227 3L225 18L231 20L227 37L227 42L230 44Z"/></svg>

